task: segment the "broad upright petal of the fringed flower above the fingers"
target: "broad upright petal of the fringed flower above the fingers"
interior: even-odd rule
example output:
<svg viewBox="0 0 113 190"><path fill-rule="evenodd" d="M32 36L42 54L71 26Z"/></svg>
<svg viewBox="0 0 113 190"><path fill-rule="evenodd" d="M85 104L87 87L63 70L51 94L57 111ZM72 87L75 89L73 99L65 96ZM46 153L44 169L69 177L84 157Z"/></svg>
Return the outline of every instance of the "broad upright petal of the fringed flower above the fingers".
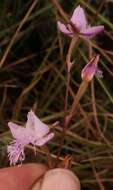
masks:
<svg viewBox="0 0 113 190"><path fill-rule="evenodd" d="M49 127L43 123L31 110L27 115L26 128L34 130L34 136L41 138L49 132Z"/></svg>

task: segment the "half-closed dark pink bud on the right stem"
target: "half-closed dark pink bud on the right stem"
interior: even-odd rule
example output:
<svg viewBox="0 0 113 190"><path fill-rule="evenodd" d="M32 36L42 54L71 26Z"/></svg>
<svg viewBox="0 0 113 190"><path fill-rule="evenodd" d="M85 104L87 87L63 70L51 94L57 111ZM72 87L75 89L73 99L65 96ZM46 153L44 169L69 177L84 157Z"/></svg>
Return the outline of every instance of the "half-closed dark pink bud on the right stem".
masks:
<svg viewBox="0 0 113 190"><path fill-rule="evenodd" d="M94 75L97 77L102 77L102 71L98 68L100 56L97 55L91 59L91 61L85 65L81 72L81 77L83 80L90 82Z"/></svg>

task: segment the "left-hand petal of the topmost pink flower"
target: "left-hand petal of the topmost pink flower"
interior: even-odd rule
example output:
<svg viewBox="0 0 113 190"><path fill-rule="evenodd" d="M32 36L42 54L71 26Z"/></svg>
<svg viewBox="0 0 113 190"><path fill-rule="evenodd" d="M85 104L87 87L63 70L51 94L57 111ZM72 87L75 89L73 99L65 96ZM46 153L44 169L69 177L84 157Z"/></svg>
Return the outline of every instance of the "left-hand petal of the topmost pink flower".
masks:
<svg viewBox="0 0 113 190"><path fill-rule="evenodd" d="M69 31L69 30L66 28L66 26L65 26L63 23L61 23L60 21L57 22L57 26L58 26L58 29L59 29L62 33L66 34L66 35L69 36L69 37L72 37L72 36L73 36L73 33L72 33L71 31Z"/></svg>

